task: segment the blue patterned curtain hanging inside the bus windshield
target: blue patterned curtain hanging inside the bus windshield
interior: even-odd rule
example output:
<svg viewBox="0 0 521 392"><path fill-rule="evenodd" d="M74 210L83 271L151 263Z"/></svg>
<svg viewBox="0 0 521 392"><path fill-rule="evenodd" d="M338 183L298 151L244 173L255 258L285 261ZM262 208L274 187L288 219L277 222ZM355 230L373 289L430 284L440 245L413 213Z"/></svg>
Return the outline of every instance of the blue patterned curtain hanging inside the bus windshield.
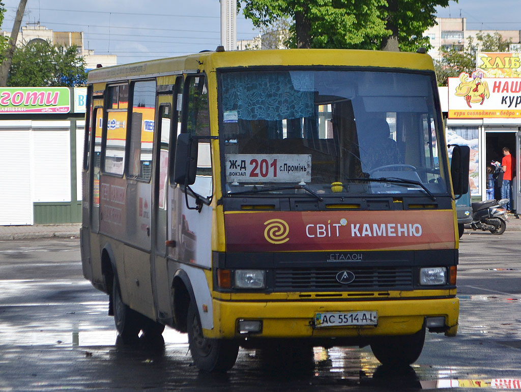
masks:
<svg viewBox="0 0 521 392"><path fill-rule="evenodd" d="M315 115L313 81L304 72L223 73L222 108L239 120L283 120ZM304 80L301 80L302 78Z"/></svg>

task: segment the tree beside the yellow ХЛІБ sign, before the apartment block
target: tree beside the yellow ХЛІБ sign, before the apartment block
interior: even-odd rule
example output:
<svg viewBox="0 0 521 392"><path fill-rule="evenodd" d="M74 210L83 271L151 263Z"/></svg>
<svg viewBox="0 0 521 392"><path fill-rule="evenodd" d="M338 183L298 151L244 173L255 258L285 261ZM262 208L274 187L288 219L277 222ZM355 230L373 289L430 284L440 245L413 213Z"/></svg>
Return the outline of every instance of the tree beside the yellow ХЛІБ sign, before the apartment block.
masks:
<svg viewBox="0 0 521 392"><path fill-rule="evenodd" d="M436 78L440 86L446 86L447 78L457 78L462 72L469 75L476 70L476 53L482 52L506 52L512 40L503 40L499 33L476 34L476 41L473 37L467 38L465 50L452 46L450 48L440 48L441 60L435 60Z"/></svg>

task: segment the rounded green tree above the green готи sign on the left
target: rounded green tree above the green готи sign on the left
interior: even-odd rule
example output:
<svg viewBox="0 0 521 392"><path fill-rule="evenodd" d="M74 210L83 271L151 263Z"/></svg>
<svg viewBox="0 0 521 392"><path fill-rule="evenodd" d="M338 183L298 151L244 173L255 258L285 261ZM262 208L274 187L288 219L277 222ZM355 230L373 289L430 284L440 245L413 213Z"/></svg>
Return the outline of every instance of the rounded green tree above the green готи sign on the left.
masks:
<svg viewBox="0 0 521 392"><path fill-rule="evenodd" d="M77 46L34 42L17 47L7 79L8 86L78 86L85 84L85 60Z"/></svg>

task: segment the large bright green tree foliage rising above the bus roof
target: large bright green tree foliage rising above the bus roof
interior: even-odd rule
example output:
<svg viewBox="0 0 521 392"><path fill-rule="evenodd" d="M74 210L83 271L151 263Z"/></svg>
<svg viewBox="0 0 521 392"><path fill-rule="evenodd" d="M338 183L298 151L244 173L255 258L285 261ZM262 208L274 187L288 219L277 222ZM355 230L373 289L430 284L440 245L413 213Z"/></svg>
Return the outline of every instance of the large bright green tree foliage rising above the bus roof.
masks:
<svg viewBox="0 0 521 392"><path fill-rule="evenodd" d="M292 20L291 47L413 51L449 0L239 0L254 26ZM456 0L457 1L457 0Z"/></svg>

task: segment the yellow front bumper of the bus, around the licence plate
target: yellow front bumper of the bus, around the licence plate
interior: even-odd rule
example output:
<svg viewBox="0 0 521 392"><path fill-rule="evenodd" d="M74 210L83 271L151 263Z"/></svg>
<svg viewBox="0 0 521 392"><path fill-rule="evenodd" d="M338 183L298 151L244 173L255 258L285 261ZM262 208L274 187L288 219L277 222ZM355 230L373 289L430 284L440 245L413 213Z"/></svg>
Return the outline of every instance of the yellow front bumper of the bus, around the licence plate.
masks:
<svg viewBox="0 0 521 392"><path fill-rule="evenodd" d="M231 302L213 300L214 328L208 338L334 338L409 335L425 318L444 317L444 333L455 336L460 302L457 298L357 302ZM316 327L316 313L376 311L377 325ZM239 321L262 322L261 332L240 333Z"/></svg>

